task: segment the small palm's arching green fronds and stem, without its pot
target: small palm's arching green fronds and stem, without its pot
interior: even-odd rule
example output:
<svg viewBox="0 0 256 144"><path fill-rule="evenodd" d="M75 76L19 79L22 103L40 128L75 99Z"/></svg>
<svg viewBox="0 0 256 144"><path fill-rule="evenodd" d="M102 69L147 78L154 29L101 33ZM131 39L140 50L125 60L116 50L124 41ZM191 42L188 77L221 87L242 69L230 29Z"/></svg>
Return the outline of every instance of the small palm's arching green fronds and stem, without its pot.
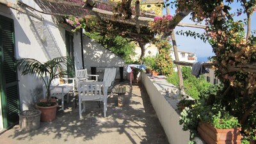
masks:
<svg viewBox="0 0 256 144"><path fill-rule="evenodd" d="M40 77L44 81L47 91L46 106L51 105L51 82L56 78L61 78L67 74L67 70L63 67L72 67L72 61L68 57L58 57L52 60L41 63L32 58L22 58L17 60L17 69L20 70L21 75L30 75ZM45 106L45 104L44 104Z"/></svg>

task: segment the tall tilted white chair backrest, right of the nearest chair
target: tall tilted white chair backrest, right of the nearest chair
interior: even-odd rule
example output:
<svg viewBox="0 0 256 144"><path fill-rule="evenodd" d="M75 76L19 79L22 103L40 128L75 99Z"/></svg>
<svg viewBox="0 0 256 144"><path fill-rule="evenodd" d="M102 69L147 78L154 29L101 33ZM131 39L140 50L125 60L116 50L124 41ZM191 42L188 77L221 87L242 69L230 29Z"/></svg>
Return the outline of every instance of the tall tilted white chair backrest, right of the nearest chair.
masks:
<svg viewBox="0 0 256 144"><path fill-rule="evenodd" d="M105 86L111 86L111 83L115 80L116 77L116 68L105 68L103 81Z"/></svg>

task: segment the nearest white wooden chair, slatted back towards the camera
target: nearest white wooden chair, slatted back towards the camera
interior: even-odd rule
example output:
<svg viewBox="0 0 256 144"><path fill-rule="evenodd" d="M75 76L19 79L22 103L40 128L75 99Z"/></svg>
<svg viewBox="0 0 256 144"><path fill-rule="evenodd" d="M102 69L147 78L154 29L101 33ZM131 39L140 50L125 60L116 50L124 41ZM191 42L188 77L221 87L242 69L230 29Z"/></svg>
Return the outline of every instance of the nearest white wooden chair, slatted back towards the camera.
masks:
<svg viewBox="0 0 256 144"><path fill-rule="evenodd" d="M106 117L107 111L107 90L104 86L104 82L97 81L78 81L78 105L79 105L79 117L82 118L82 113L85 111L86 101L102 101L104 117ZM83 109L82 109L83 104Z"/></svg>

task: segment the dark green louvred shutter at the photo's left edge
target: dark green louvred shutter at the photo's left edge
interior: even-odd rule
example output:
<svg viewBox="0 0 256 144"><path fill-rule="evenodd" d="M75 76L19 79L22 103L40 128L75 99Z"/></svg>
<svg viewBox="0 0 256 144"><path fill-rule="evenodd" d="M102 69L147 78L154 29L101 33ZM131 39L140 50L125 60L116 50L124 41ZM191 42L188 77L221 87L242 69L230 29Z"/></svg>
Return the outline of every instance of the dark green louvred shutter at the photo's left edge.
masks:
<svg viewBox="0 0 256 144"><path fill-rule="evenodd" d="M19 122L19 90L15 67L13 20L0 15L1 101L4 128Z"/></svg>

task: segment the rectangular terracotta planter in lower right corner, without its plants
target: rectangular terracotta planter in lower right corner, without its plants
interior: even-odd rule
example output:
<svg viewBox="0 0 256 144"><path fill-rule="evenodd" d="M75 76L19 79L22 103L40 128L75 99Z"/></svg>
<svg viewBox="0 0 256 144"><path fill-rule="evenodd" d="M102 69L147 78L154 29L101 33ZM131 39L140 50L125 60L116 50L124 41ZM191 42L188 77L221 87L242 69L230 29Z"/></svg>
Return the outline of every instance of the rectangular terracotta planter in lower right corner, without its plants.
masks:
<svg viewBox="0 0 256 144"><path fill-rule="evenodd" d="M241 129L216 129L211 124L201 123L197 128L200 137L208 144L240 144Z"/></svg>

